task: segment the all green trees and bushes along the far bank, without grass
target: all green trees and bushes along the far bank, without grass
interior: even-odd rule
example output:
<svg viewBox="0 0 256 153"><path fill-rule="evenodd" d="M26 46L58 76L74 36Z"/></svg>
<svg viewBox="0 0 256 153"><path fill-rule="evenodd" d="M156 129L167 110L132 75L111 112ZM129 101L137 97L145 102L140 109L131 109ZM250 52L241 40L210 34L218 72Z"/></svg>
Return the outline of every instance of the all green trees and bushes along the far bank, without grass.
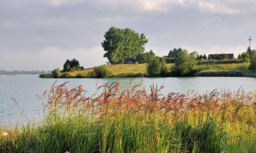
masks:
<svg viewBox="0 0 256 153"><path fill-rule="evenodd" d="M195 65L197 61L206 61L208 56L198 54L196 51L188 52L182 48L173 48L169 50L167 56L156 56L153 50L145 52L145 44L148 39L144 33L137 33L133 29L120 29L111 27L109 31L104 33L102 48L104 48L104 57L108 58L108 64L123 64L132 61L133 63L147 63L147 73L150 76L188 76L195 73ZM220 59L225 59L219 56ZM256 69L256 50L248 48L246 52L238 55L238 59L244 62L250 62L250 69ZM166 63L174 63L174 66L167 67ZM61 73L68 71L79 71L84 68L75 58L67 60L63 69L54 69L53 77L58 78ZM100 78L101 75L109 74L106 69L98 67L94 69L96 75ZM101 73L102 72L102 73Z"/></svg>

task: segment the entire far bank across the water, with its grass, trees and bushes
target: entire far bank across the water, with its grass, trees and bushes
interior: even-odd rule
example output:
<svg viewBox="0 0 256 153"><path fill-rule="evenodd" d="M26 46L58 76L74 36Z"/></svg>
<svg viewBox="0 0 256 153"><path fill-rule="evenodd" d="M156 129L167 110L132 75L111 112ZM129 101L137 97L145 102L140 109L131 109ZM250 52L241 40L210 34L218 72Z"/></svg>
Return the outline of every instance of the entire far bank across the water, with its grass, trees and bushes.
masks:
<svg viewBox="0 0 256 153"><path fill-rule="evenodd" d="M188 77L246 75L256 71L256 50L233 54L198 54L182 48L169 50L167 56L156 56L153 50L145 52L148 39L133 29L111 27L104 33L102 48L106 65L84 69L76 59L67 60L63 69L40 75L40 78L120 78L120 77ZM238 71L242 71L243 74ZM246 72L248 71L248 72Z"/></svg>

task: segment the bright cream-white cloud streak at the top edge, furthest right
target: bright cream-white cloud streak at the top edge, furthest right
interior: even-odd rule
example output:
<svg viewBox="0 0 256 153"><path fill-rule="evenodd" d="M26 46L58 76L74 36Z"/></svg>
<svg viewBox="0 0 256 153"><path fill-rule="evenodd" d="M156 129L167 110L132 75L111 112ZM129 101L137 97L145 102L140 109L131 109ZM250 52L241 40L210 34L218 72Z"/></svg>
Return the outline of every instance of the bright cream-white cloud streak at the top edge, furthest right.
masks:
<svg viewBox="0 0 256 153"><path fill-rule="evenodd" d="M226 7L225 5L217 5L214 3L209 3L206 1L199 1L199 8L202 11L212 12L212 13L220 13L220 14L237 14L240 11L236 9L232 9Z"/></svg>

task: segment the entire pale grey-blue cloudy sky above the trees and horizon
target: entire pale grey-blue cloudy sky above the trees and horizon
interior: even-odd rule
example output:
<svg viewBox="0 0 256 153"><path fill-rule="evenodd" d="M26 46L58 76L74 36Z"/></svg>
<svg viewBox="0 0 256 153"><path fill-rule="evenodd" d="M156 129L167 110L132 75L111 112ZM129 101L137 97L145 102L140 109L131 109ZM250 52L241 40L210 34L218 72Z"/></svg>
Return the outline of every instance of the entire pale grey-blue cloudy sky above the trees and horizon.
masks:
<svg viewBox="0 0 256 153"><path fill-rule="evenodd" d="M106 63L109 27L145 33L158 56L173 48L234 53L255 37L255 0L0 0L0 69L52 70L68 58Z"/></svg>

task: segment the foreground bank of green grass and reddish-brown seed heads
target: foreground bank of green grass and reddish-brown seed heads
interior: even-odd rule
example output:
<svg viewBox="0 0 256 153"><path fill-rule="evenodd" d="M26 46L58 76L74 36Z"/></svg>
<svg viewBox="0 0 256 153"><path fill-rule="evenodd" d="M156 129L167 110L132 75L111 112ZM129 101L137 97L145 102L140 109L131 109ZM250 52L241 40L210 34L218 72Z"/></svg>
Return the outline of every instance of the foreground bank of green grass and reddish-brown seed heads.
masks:
<svg viewBox="0 0 256 153"><path fill-rule="evenodd" d="M216 91L160 95L99 86L53 86L38 125L0 128L0 152L256 152L256 95Z"/></svg>

